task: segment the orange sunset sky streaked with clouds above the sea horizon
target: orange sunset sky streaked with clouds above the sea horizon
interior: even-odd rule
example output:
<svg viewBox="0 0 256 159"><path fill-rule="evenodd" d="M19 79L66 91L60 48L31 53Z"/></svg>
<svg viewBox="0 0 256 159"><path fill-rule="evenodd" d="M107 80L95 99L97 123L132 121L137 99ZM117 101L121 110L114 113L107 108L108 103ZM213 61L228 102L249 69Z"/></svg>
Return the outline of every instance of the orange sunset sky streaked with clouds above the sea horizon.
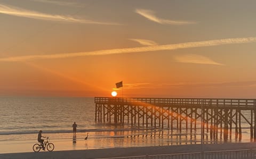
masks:
<svg viewBox="0 0 256 159"><path fill-rule="evenodd" d="M0 0L0 96L255 98L254 6Z"/></svg>

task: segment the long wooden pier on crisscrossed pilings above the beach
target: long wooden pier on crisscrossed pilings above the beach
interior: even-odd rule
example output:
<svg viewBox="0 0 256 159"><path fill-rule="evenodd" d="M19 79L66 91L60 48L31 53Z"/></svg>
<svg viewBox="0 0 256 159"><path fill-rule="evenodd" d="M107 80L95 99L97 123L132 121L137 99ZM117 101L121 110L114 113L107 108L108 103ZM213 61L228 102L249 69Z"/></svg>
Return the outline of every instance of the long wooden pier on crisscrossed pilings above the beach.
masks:
<svg viewBox="0 0 256 159"><path fill-rule="evenodd" d="M218 136L242 139L242 125L256 141L256 99L95 97L95 121L136 127L202 129ZM219 134L219 135L218 135Z"/></svg>

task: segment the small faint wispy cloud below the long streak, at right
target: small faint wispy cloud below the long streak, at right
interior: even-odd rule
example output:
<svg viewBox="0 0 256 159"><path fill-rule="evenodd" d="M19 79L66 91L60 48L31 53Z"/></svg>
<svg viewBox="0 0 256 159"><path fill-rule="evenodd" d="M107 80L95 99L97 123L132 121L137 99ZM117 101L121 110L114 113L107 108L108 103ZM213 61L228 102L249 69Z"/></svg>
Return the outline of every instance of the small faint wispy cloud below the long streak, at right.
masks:
<svg viewBox="0 0 256 159"><path fill-rule="evenodd" d="M177 62L181 63L196 63L196 64L214 64L214 65L223 65L221 63L215 62L211 60L208 57L201 56L201 55L194 55L194 54L188 54L188 55L177 55L174 56L174 59Z"/></svg>

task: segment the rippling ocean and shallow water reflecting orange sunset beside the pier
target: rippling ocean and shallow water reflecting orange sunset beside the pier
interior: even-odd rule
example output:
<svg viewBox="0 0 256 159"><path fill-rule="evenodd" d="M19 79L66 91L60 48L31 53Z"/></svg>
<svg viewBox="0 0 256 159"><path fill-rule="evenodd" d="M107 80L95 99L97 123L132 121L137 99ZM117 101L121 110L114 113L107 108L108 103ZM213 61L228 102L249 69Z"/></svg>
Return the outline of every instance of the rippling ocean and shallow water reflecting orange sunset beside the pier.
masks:
<svg viewBox="0 0 256 159"><path fill-rule="evenodd" d="M89 140L97 143L91 146L91 149L201 143L201 130L190 132L182 129L180 132L167 128L138 129L130 124L116 126L95 122L94 98L0 97L0 110L0 142L36 142L39 130L43 131L43 136L49 136L53 140L71 141L72 124L76 122L76 138L83 140L89 132ZM239 142L249 142L250 129L243 128L242 131L243 138ZM204 143L223 142L223 138L212 140L209 134L206 133L205 136ZM232 134L228 142L238 142L234 137Z"/></svg>

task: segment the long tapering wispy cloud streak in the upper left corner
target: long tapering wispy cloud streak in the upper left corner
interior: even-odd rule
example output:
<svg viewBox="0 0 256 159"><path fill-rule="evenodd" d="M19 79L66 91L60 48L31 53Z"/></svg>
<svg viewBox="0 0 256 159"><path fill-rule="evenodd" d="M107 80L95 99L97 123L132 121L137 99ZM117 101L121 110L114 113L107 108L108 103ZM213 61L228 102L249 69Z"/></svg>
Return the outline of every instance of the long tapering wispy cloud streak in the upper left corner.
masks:
<svg viewBox="0 0 256 159"><path fill-rule="evenodd" d="M76 18L73 18L73 16L40 13L40 12L29 11L25 9L19 9L18 7L7 6L3 4L0 4L0 13L13 15L13 16L26 17L26 18L40 19L40 20L75 22L75 23L86 23L86 24L105 24L105 25L117 24L117 23L98 22L93 20L76 19Z"/></svg>

